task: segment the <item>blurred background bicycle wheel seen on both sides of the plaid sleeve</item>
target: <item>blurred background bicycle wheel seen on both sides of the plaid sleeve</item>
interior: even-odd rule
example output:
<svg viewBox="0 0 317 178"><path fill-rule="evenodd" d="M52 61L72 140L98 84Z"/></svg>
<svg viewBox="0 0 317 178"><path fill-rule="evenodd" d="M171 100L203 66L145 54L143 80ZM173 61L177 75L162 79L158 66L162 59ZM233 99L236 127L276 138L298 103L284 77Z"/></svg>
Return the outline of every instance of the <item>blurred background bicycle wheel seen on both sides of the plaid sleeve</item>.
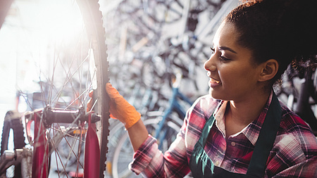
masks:
<svg viewBox="0 0 317 178"><path fill-rule="evenodd" d="M178 118L179 119L179 118ZM180 119L179 119L180 120ZM144 120L144 125L147 127L149 134L155 135L156 128L158 127L160 118L152 118ZM161 145L161 151L165 152L168 150L170 144L175 140L176 135L180 131L180 125L175 120L168 120L165 127L161 130L163 134L166 134L163 140L158 140ZM130 144L128 138L128 133L121 135L118 144L116 145L116 150L113 153L112 159L112 176L113 178L123 178L123 177L141 177L135 175L128 169L129 163L132 161L133 148Z"/></svg>

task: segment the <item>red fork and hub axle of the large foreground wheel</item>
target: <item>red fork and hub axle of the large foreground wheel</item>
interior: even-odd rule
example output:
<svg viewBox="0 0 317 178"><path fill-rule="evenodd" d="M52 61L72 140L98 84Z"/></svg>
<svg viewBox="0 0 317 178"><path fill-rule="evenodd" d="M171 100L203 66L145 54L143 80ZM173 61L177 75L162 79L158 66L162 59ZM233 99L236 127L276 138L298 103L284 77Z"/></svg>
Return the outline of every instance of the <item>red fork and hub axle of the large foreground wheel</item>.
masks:
<svg viewBox="0 0 317 178"><path fill-rule="evenodd" d="M100 117L93 113L85 114L82 110L58 110L56 108L46 107L35 113L27 113L25 115L29 122L35 122L35 139L33 141L34 151L32 159L32 178L48 177L49 174L49 157L51 148L46 136L46 128L53 122L58 123L75 123L88 122L87 136L85 141L85 177L99 177L99 160L100 150L99 141L95 132L95 124ZM65 133L66 134L66 133ZM30 133L27 133L30 135ZM59 143L59 141L57 141ZM77 158L79 159L79 158ZM41 169L39 169L41 168Z"/></svg>

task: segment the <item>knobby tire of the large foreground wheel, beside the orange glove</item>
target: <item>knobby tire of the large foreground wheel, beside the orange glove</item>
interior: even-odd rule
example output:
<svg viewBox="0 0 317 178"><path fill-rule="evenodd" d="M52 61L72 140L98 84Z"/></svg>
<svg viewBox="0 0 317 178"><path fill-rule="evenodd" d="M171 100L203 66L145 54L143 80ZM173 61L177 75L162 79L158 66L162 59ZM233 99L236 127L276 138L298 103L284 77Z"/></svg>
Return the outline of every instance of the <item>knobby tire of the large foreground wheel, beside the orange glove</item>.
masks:
<svg viewBox="0 0 317 178"><path fill-rule="evenodd" d="M104 177L104 170L106 170L106 153L108 153L108 135L109 135L109 101L110 98L108 94L106 94L105 86L106 83L109 81L108 76L108 60L107 60L107 46L106 46L106 31L104 29L104 23L102 20L102 13L99 10L99 0L91 1L91 0L77 0L77 3L80 3L80 8L83 14L84 22L87 27L90 26L90 28L87 30L88 34L93 37L94 40L97 41L98 46L95 49L96 53L94 53L94 56L99 56L97 58L96 67L97 71L100 72L99 82L97 84L99 85L97 87L97 98L101 99L101 102L97 104L97 113L101 115L101 123L97 126L97 129L99 130L100 137L99 137L99 143L100 143L100 172L99 177ZM84 4L85 3L85 4ZM87 8L89 7L89 9ZM85 11L87 10L88 11ZM95 36L93 36L95 34ZM95 93L95 92L94 92ZM95 95L95 94L94 94ZM96 98L96 96L94 96Z"/></svg>

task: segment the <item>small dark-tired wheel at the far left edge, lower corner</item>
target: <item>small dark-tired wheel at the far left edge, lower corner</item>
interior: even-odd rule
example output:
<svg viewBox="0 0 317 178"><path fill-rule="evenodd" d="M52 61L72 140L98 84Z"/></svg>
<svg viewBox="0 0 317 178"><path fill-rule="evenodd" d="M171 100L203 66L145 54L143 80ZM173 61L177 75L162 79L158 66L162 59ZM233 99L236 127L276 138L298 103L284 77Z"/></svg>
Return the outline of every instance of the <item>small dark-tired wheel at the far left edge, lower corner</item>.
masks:
<svg viewBox="0 0 317 178"><path fill-rule="evenodd" d="M11 130L13 130L13 132L10 132ZM9 144L12 142L14 149L23 148L25 146L25 136L20 114L15 111L8 111L4 118L4 128L2 129L1 155L11 147ZM16 163L13 167L8 168L6 172L1 174L0 177L20 177L20 172L20 163Z"/></svg>

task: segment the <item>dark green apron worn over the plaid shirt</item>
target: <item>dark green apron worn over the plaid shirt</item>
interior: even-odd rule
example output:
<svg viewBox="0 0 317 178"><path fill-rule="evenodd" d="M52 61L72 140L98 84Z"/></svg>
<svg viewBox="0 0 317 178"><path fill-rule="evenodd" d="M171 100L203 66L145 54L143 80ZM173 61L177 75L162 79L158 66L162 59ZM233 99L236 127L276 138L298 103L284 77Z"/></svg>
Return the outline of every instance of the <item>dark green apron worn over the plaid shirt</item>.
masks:
<svg viewBox="0 0 317 178"><path fill-rule="evenodd" d="M278 127L280 126L281 114L282 110L280 107L280 103L273 92L272 102L268 108L268 113L266 114L266 118L263 122L259 138L256 141L256 146L254 147L254 151L252 153L247 174L229 172L221 167L213 165L213 161L204 151L204 146L206 145L209 132L215 120L213 115L211 115L211 117L209 117L209 120L207 120L204 129L201 132L199 141L194 146L192 157L189 160L189 167L192 171L192 176L194 178L263 177L264 172L266 170L266 161L268 160L268 155L271 149L273 148L275 136L278 132Z"/></svg>

